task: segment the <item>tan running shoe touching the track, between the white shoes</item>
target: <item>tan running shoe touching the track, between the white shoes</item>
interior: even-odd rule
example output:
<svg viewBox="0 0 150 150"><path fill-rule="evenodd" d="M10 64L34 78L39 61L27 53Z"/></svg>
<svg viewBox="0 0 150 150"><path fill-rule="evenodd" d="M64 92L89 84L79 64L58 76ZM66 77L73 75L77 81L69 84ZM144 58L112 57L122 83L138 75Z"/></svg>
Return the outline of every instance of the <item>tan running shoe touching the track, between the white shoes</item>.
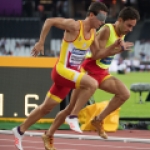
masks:
<svg viewBox="0 0 150 150"><path fill-rule="evenodd" d="M42 135L42 140L44 142L45 150L56 150L54 147L54 138L52 136L47 136L44 133Z"/></svg>

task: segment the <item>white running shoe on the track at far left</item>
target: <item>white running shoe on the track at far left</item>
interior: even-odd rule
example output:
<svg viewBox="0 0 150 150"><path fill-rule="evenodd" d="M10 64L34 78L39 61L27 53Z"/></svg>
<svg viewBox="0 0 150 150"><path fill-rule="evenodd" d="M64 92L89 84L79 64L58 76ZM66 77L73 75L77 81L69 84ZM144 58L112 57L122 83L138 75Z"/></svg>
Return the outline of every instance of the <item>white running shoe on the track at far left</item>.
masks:
<svg viewBox="0 0 150 150"><path fill-rule="evenodd" d="M23 139L23 135L20 135L18 133L18 129L17 127L12 129L12 132L15 136L15 146L19 149L19 150L23 150L22 148L22 139Z"/></svg>

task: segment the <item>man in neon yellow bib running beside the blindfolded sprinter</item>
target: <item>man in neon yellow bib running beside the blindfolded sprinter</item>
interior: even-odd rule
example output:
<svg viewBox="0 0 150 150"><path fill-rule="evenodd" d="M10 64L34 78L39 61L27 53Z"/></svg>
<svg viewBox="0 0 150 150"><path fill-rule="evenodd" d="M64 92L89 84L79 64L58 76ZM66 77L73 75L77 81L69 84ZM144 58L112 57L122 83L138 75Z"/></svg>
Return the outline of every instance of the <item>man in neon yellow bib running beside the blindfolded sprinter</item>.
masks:
<svg viewBox="0 0 150 150"><path fill-rule="evenodd" d="M129 90L125 85L115 77L113 77L108 69L113 60L113 57L117 53L121 53L124 50L129 50L130 46L133 46L133 43L124 42L124 36L133 30L133 27L136 25L136 22L139 20L140 16L137 10L132 7L126 7L122 9L119 13L118 19L114 24L106 24L98 32L95 38L96 43L99 45L99 49L96 50L94 44L91 46L93 51L92 55L87 55L87 59L83 61L81 65L81 70L87 72L88 75L93 77L99 83L99 89L107 91L114 94L114 97L110 101L107 108L91 122L94 125L102 138L107 138L105 131L103 130L103 119L109 115L112 111L120 107L128 98ZM116 40L122 42L121 46L108 47ZM116 44L117 45L117 44ZM114 49L113 49L114 48ZM95 60L94 60L95 59ZM68 124L72 130L78 131L79 128L77 113L72 113L72 110L75 108L78 95L82 95L80 89L73 90L71 94L71 99L69 105L62 111L60 111L50 129L47 131L47 134L51 137L51 145L53 145L53 135L59 126L64 123L65 118L71 120L73 127L69 121ZM83 102L84 101L84 102ZM79 104L82 106L88 101L88 99L82 99ZM82 107L81 106L81 107ZM66 120L67 120L66 119ZM77 127L76 127L77 126ZM52 146L53 147L53 146Z"/></svg>

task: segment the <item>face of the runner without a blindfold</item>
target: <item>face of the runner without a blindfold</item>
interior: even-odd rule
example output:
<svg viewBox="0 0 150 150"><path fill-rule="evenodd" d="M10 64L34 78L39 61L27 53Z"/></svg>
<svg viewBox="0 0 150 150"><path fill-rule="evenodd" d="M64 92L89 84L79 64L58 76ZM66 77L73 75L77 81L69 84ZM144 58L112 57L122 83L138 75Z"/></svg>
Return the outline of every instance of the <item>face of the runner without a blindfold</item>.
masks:
<svg viewBox="0 0 150 150"><path fill-rule="evenodd" d="M134 26L136 25L137 20L126 20L123 21L122 19L120 20L120 31L122 32L122 34L127 34L129 32L131 32L134 28Z"/></svg>

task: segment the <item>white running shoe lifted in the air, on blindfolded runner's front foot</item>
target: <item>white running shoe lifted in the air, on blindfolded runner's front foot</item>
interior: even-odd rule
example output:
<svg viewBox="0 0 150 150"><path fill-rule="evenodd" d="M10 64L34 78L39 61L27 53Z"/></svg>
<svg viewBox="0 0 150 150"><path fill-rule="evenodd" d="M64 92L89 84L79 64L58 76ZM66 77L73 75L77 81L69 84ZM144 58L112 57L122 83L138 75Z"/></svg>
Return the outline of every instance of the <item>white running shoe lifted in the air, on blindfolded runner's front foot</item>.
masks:
<svg viewBox="0 0 150 150"><path fill-rule="evenodd" d="M69 118L68 116L66 117L65 122L70 126L71 130L76 131L78 133L82 133L77 118Z"/></svg>

